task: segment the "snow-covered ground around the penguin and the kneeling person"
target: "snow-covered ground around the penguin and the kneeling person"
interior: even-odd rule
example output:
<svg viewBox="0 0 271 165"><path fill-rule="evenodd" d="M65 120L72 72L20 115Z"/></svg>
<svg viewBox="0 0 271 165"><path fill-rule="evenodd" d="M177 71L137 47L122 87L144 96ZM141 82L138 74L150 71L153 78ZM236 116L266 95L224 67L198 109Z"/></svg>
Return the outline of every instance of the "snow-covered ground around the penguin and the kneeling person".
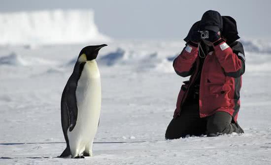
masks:
<svg viewBox="0 0 271 165"><path fill-rule="evenodd" d="M83 46L1 46L0 165L271 164L268 51L245 47L251 52L245 52L246 73L238 117L245 134L165 140L178 91L182 81L187 80L174 73L170 57L177 55L184 43L107 44L98 58L102 114L95 142L146 142L95 143L94 157L56 158L66 145L56 143L65 141L60 119L61 94ZM110 60L114 62L108 63Z"/></svg>

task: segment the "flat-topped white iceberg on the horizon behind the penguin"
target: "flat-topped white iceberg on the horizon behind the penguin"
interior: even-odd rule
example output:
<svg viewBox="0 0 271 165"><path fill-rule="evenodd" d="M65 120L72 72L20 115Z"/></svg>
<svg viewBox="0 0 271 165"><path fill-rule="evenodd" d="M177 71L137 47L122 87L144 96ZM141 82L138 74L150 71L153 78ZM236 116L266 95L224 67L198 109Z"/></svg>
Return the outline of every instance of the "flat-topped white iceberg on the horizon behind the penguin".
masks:
<svg viewBox="0 0 271 165"><path fill-rule="evenodd" d="M0 44L71 44L106 41L92 10L0 13Z"/></svg>

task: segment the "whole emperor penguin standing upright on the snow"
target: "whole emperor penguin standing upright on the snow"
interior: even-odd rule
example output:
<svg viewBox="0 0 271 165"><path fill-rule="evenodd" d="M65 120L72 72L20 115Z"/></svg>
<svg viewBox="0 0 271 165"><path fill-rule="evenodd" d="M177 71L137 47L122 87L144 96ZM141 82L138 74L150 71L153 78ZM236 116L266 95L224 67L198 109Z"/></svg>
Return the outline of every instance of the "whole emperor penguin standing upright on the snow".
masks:
<svg viewBox="0 0 271 165"><path fill-rule="evenodd" d="M92 156L102 100L100 72L95 59L104 46L107 45L87 46L81 50L63 90L61 124L67 147L60 157Z"/></svg>

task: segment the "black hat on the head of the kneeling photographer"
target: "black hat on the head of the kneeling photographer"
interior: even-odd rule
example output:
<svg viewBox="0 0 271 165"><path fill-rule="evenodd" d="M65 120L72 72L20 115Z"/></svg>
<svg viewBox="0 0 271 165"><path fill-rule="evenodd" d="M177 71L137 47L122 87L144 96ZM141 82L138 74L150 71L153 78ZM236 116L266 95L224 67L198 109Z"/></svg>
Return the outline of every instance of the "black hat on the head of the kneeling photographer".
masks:
<svg viewBox="0 0 271 165"><path fill-rule="evenodd" d="M223 20L219 12L214 10L206 11L202 17L200 29L212 30L214 32L222 31Z"/></svg>

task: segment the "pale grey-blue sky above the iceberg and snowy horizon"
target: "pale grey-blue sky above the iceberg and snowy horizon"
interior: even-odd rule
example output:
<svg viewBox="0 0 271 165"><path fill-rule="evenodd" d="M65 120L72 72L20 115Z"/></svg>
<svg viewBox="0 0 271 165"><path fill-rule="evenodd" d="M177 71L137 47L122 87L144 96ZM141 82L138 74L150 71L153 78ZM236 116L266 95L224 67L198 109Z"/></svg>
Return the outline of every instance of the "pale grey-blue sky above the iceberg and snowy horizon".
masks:
<svg viewBox="0 0 271 165"><path fill-rule="evenodd" d="M209 9L236 19L239 36L271 37L271 0L0 0L0 12L93 9L115 39L183 39Z"/></svg>

